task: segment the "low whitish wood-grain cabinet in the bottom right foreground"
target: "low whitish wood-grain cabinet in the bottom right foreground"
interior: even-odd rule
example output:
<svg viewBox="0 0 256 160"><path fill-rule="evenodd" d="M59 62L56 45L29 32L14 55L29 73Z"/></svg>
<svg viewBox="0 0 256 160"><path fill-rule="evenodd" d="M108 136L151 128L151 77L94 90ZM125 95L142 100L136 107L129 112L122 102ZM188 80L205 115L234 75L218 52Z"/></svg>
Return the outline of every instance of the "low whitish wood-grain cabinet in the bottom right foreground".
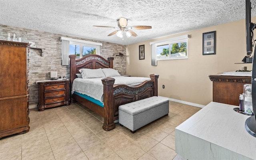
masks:
<svg viewBox="0 0 256 160"><path fill-rule="evenodd" d="M186 140L188 141L186 138L194 136L210 142L210 145L214 144L214 147L216 145L220 146L220 148L227 149L225 152L232 151L228 154L233 154L233 152L235 152L255 160L256 137L250 135L244 126L245 121L249 116L233 111L233 108L236 107L237 106L211 102L192 117L177 126L175 137L177 136L176 141L178 142L176 143L182 143L182 145L176 144L178 147L176 148L176 150L178 150L177 153L186 153L184 149L189 148L188 146L185 146L187 143ZM185 134L183 134L183 132ZM179 133L182 135L182 137L179 137ZM186 134L189 134L188 137L184 137ZM214 152L211 147L212 146L210 146L211 151L209 152ZM219 150L219 148L216 150ZM219 152L216 150L215 153L209 154L213 154L213 157L214 154L216 156L216 154ZM181 153L179 153L180 151ZM204 152L202 154L208 153ZM186 158L190 159L189 157Z"/></svg>

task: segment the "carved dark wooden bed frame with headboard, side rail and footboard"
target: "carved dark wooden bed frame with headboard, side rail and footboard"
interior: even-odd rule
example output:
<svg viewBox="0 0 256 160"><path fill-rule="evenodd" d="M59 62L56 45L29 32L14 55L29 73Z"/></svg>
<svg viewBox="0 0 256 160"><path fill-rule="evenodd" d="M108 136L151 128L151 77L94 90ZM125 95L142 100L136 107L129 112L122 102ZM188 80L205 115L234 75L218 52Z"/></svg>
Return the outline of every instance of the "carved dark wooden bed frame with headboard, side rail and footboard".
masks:
<svg viewBox="0 0 256 160"><path fill-rule="evenodd" d="M75 83L76 80L79 80L79 78L77 78L77 73L80 73L80 69L113 68L113 57L108 57L107 60L100 55L86 55L81 59L76 59L76 55L69 55L69 58L71 90L73 83ZM102 128L106 131L112 130L116 127L114 120L118 120L118 107L120 105L152 96L158 96L158 77L159 75L151 74L150 79L148 78L148 80L133 86L124 85L122 83L114 84L114 78L102 77L100 78L102 81L101 83L103 84L102 105L92 101L91 97L87 97L89 99L85 99L82 94L76 92L73 93L73 91L71 102L78 101L98 115L104 117L104 124Z"/></svg>

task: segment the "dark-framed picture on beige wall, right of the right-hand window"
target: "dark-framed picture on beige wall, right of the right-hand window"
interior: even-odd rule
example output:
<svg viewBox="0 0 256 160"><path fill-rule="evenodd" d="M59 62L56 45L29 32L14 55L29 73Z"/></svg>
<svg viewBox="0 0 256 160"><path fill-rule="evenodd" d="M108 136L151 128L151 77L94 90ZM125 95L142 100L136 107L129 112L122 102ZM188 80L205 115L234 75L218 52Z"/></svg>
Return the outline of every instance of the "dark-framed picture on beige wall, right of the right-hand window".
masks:
<svg viewBox="0 0 256 160"><path fill-rule="evenodd" d="M216 31L203 33L203 55L216 54Z"/></svg>

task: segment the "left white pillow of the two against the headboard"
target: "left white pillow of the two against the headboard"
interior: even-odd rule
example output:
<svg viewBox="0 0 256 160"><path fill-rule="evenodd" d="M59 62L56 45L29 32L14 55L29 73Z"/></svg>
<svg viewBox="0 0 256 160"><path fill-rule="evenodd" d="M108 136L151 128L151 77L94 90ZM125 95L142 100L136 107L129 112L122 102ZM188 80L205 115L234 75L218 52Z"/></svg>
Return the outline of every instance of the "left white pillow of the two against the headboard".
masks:
<svg viewBox="0 0 256 160"><path fill-rule="evenodd" d="M99 78L105 77L101 68L99 69L79 69L80 73L82 74L83 78Z"/></svg>

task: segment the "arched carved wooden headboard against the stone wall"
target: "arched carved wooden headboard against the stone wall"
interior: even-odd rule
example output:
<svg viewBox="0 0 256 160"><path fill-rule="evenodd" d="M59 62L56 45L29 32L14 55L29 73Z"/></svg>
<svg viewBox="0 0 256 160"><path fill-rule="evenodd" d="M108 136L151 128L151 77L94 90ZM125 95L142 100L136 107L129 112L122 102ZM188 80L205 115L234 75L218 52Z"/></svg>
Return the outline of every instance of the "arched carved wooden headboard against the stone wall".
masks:
<svg viewBox="0 0 256 160"><path fill-rule="evenodd" d="M98 69L98 68L113 68L114 57L108 57L108 60L100 55L90 54L80 59L76 59L76 55L69 55L70 58L70 87L76 78L76 73L80 73L79 69Z"/></svg>

